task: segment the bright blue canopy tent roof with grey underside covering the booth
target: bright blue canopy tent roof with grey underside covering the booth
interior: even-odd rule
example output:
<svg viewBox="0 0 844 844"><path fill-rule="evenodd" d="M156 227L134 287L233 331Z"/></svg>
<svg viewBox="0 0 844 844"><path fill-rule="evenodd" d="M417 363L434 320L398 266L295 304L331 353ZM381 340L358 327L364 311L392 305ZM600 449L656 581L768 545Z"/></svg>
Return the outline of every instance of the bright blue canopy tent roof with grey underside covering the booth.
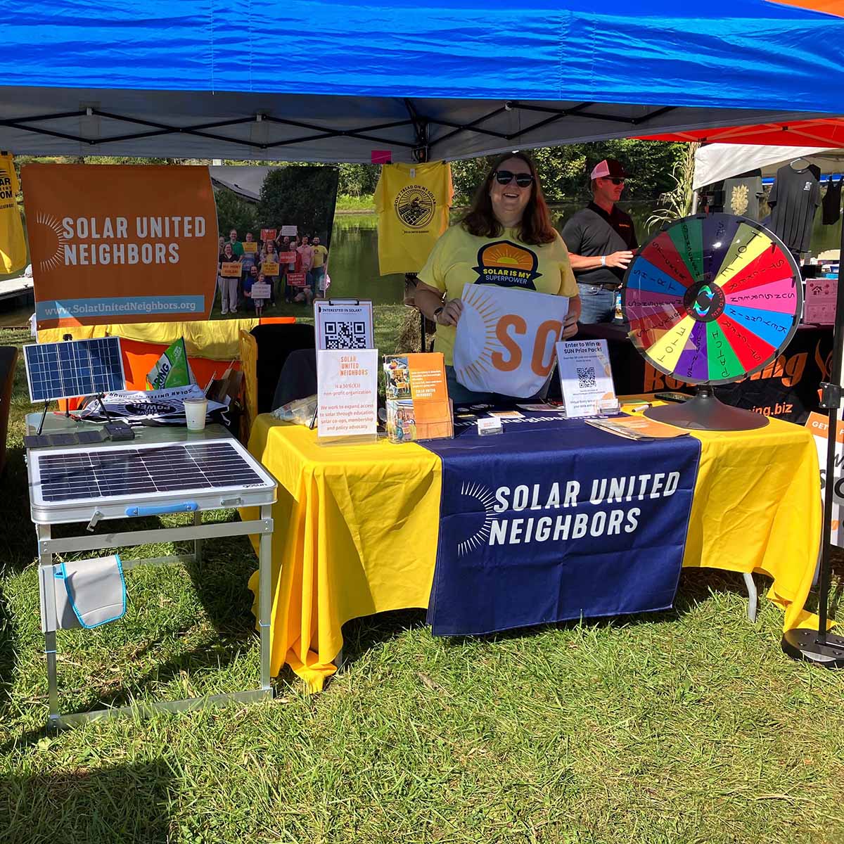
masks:
<svg viewBox="0 0 844 844"><path fill-rule="evenodd" d="M844 19L768 0L0 3L19 154L455 159L844 113Z"/></svg>

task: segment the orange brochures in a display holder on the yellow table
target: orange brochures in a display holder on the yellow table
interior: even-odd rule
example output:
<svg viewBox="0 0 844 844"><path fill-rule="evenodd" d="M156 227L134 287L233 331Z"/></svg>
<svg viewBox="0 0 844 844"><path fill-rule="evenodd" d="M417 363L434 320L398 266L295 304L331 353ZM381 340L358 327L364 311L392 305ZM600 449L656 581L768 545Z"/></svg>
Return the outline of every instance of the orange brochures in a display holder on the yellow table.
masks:
<svg viewBox="0 0 844 844"><path fill-rule="evenodd" d="M454 436L440 352L387 354L387 434L393 442L437 440Z"/></svg>

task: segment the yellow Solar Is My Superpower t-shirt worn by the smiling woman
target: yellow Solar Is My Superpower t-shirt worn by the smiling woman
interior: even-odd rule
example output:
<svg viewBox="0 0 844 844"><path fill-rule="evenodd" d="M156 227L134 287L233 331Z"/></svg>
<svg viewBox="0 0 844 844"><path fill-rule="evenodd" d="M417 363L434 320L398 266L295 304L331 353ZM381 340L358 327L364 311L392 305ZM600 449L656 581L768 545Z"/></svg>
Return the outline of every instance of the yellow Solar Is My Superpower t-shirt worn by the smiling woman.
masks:
<svg viewBox="0 0 844 844"><path fill-rule="evenodd" d="M500 237L470 235L459 223L446 231L419 271L419 280L441 290L447 299L459 299L464 284L498 284L550 295L577 295L569 251L558 234L550 243L528 246L516 231L505 229ZM453 365L452 325L436 327L434 348Z"/></svg>

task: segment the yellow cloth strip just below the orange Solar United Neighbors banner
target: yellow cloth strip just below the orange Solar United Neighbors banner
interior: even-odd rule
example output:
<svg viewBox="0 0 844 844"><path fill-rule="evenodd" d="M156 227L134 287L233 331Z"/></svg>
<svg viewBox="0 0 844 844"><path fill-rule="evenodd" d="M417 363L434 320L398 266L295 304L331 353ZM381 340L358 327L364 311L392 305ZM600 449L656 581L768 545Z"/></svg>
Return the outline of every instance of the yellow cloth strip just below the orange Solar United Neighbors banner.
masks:
<svg viewBox="0 0 844 844"><path fill-rule="evenodd" d="M241 331L252 331L257 318L197 320L196 322L127 322L114 325L75 325L45 328L38 332L40 343L59 343L65 334L74 340L116 335L141 343L170 345L185 338L185 349L191 357L208 360L238 360L241 354Z"/></svg>

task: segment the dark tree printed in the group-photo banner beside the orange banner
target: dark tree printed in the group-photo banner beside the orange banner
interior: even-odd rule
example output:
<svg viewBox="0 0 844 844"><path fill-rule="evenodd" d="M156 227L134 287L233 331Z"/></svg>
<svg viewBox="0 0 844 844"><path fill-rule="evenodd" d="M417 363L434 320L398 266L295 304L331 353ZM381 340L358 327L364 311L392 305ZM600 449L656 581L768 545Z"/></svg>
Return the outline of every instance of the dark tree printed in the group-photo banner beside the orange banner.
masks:
<svg viewBox="0 0 844 844"><path fill-rule="evenodd" d="M337 167L273 167L261 186L260 229L298 225L300 234L331 237L337 196Z"/></svg>

